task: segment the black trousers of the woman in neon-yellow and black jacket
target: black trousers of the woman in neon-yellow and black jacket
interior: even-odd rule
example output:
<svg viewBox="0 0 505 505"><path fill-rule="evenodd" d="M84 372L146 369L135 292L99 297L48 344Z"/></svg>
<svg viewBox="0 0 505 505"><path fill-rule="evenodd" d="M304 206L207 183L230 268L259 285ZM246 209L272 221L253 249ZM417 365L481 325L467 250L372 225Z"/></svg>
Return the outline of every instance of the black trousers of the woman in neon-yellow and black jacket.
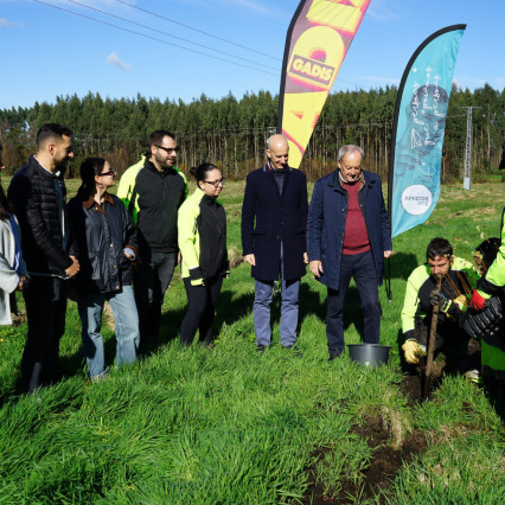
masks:
<svg viewBox="0 0 505 505"><path fill-rule="evenodd" d="M200 330L200 341L212 342L214 308L223 284L222 276L206 279L204 286L191 286L191 279L184 278L187 294L187 312L181 324L181 344L191 345L196 330Z"/></svg>

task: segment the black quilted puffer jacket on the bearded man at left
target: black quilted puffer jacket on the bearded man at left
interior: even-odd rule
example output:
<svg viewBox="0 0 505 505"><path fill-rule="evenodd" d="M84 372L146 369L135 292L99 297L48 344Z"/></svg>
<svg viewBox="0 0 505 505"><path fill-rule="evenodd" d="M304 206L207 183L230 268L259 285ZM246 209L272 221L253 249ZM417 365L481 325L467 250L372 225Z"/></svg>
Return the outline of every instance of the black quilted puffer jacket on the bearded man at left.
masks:
<svg viewBox="0 0 505 505"><path fill-rule="evenodd" d="M55 184L60 185L63 200ZM30 156L28 163L14 174L7 195L20 224L28 271L66 277L65 270L72 265L72 259L63 247L63 178L48 172Z"/></svg>

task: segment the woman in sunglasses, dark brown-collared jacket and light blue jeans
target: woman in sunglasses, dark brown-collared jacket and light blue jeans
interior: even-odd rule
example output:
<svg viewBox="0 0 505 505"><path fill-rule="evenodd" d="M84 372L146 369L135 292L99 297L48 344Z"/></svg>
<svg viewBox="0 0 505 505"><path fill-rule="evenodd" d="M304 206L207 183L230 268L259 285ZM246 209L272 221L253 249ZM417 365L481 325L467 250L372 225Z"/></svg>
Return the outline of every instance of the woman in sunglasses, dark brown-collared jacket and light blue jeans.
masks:
<svg viewBox="0 0 505 505"><path fill-rule="evenodd" d="M80 265L76 277L82 349L92 379L108 375L100 334L103 304L112 308L116 331L116 364L136 359L140 340L138 316L131 286L131 262L136 255L136 234L124 203L107 189L115 172L102 158L81 164L82 184L68 202L73 232L71 254Z"/></svg>

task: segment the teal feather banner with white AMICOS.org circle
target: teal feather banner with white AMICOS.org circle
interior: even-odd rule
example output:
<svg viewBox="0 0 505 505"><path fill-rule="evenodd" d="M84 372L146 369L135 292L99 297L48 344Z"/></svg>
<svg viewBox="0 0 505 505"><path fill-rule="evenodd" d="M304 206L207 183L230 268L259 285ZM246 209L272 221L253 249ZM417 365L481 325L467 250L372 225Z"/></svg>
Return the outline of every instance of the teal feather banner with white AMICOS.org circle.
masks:
<svg viewBox="0 0 505 505"><path fill-rule="evenodd" d="M452 25L428 37L400 81L388 184L392 237L426 221L439 200L445 118L465 28Z"/></svg>

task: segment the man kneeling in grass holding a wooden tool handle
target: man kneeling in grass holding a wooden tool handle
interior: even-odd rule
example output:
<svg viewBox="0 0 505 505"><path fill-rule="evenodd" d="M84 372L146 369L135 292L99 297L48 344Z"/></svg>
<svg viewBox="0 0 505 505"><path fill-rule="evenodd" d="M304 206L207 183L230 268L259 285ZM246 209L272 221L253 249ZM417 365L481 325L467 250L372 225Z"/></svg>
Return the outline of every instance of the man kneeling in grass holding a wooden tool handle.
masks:
<svg viewBox="0 0 505 505"><path fill-rule="evenodd" d="M480 353L468 354L469 336L463 330L466 308L472 295L477 273L465 259L452 254L445 238L431 240L426 250L427 263L409 276L402 309L402 349L407 363L417 365L426 355L430 335L433 305L439 305L434 355L441 367L465 373L476 379L479 375ZM437 276L442 276L437 290ZM444 356L445 360L444 360Z"/></svg>

